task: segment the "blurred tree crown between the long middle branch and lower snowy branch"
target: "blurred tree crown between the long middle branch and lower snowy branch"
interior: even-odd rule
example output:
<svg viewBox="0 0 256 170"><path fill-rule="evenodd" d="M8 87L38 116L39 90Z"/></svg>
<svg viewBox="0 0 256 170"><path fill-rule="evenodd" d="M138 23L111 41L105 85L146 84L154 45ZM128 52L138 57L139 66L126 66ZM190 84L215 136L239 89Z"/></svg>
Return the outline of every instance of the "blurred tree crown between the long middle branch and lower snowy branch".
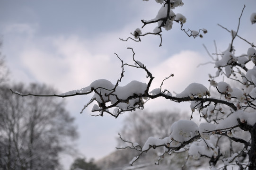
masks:
<svg viewBox="0 0 256 170"><path fill-rule="evenodd" d="M142 145L149 136L158 138L168 136L170 134L170 126L181 118L187 119L188 116L181 114L179 111L133 112L124 119L120 135L124 139L129 139ZM124 144L122 140L119 140L119 142Z"/></svg>

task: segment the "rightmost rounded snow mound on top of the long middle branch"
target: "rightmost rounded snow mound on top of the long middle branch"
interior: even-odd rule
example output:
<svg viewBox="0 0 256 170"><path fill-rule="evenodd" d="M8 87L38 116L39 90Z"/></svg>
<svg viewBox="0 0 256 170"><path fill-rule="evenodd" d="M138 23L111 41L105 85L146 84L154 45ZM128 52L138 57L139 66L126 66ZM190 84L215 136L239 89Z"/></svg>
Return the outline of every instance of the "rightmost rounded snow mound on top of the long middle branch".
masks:
<svg viewBox="0 0 256 170"><path fill-rule="evenodd" d="M183 92L177 94L176 97L182 98L189 96L193 99L194 97L202 98L205 95L210 96L210 92L204 85L199 83L192 83L188 85Z"/></svg>

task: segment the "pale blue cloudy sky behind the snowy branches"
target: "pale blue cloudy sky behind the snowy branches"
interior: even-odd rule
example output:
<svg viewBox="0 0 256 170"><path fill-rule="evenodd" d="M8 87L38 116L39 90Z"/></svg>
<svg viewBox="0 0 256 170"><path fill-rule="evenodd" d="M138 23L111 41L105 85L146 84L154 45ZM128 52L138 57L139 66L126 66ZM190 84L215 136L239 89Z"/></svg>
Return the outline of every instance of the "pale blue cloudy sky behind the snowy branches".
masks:
<svg viewBox="0 0 256 170"><path fill-rule="evenodd" d="M231 35L217 24L237 30L249 42L256 39L256 26L250 23L250 15L256 12L255 0L184 0L184 6L175 13L183 14L186 29L208 30L203 38L188 37L174 23L170 31L163 31L162 47L158 36L142 37L141 42L122 42L136 28L141 28L141 19L153 19L160 8L155 0L0 0L1 51L6 57L12 83L44 83L58 89L60 93L80 89L97 79L105 78L115 83L120 77L121 62L133 64L135 58L141 61L155 76L152 89L159 87L180 93L190 83L209 86L208 74L214 74L213 65L199 64L211 61L203 48L210 53L225 51ZM156 27L146 26L142 33ZM236 54L247 52L249 45L240 40L234 42ZM125 68L120 85L132 80L147 82L143 70ZM116 137L122 122L129 113L115 119L90 116L91 107L79 114L91 96L65 98L67 110L76 118L80 138L76 141L79 153L89 158L100 159L115 151ZM145 110L180 110L189 112L188 103L173 103L152 100ZM66 166L72 158L64 157ZM66 168L68 169L68 168Z"/></svg>

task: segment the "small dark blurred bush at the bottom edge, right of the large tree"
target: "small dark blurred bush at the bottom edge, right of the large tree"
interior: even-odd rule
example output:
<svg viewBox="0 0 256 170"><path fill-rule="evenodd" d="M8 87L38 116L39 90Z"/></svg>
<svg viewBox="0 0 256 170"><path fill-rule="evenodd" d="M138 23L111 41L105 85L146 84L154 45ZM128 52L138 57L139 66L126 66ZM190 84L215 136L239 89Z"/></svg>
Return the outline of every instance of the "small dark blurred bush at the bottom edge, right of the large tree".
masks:
<svg viewBox="0 0 256 170"><path fill-rule="evenodd" d="M71 165L70 170L100 170L91 159L89 162L85 158L77 158Z"/></svg>

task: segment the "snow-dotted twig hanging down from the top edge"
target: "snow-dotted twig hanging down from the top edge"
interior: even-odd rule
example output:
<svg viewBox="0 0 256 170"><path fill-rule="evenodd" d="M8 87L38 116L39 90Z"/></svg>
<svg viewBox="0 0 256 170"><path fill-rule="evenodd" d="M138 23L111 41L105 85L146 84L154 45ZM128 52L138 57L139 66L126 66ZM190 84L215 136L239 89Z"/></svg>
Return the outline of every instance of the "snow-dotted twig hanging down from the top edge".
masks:
<svg viewBox="0 0 256 170"><path fill-rule="evenodd" d="M187 34L189 37L203 37L202 34L200 34L200 32L202 31L203 34L207 33L206 29L199 29L198 31L195 30L190 30L188 29L187 31L185 30L185 28L183 28L183 24L185 24L186 22L186 17L183 16L182 14L175 14L173 12L172 9L175 9L177 7L181 7L183 6L183 2L182 0L160 0L157 1L159 4L162 4L162 7L159 9L159 12L157 14L157 16L154 19L151 20L141 20L141 22L143 23L143 26L141 27L141 29L149 24L158 24L158 26L152 31L152 32L148 32L148 33L144 33L142 34L142 31L140 28L136 28L135 31L132 34L132 37L128 37L127 39L123 39L120 38L120 40L122 41L128 41L129 39L135 41L135 42L141 42L141 37L142 36L146 36L148 34L153 34L153 35L158 35L160 37L160 44L159 46L162 46L162 29L164 28L165 30L170 30L172 29L173 26L173 22L177 22L180 23L181 27L180 29L182 31L185 32L185 34Z"/></svg>

